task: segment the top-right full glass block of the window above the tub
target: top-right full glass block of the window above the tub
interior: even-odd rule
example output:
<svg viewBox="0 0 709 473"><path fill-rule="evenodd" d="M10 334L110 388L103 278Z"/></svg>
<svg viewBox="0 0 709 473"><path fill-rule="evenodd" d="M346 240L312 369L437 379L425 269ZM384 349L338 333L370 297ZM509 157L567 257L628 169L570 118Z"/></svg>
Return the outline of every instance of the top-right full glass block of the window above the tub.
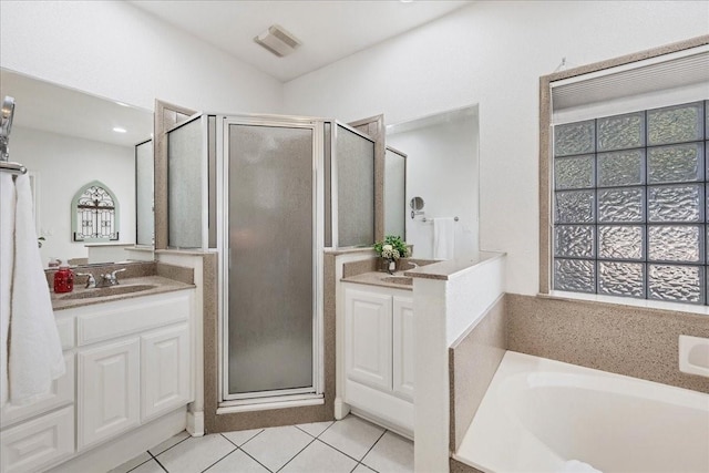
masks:
<svg viewBox="0 0 709 473"><path fill-rule="evenodd" d="M682 143L702 140L703 106L701 102L649 110L647 144Z"/></svg>

